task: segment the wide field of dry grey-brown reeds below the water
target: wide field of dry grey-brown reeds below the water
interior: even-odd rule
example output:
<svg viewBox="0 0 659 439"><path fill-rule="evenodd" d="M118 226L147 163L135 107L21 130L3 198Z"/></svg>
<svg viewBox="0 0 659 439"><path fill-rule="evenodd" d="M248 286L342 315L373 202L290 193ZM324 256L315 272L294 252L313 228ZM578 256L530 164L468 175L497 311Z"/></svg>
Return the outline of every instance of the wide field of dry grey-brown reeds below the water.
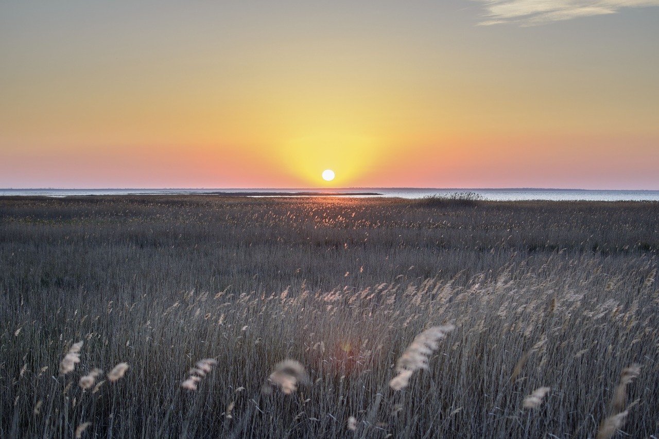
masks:
<svg viewBox="0 0 659 439"><path fill-rule="evenodd" d="M658 438L659 203L467 201L0 198L0 438Z"/></svg>

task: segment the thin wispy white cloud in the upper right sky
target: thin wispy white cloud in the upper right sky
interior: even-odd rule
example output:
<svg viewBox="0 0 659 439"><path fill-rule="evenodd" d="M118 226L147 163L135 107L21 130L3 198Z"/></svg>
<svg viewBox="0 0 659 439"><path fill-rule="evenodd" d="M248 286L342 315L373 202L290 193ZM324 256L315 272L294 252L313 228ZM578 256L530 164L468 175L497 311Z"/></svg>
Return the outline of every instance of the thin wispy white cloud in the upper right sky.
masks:
<svg viewBox="0 0 659 439"><path fill-rule="evenodd" d="M614 14L625 7L659 6L659 0L476 0L483 3L483 25L515 22L534 26L590 15Z"/></svg>

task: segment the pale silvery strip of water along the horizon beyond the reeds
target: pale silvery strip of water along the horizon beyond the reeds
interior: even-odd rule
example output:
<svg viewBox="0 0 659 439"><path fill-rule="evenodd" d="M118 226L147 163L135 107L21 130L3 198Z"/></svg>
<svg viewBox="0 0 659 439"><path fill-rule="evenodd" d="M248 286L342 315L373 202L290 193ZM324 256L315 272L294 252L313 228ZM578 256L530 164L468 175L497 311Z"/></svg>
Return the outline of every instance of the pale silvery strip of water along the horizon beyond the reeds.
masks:
<svg viewBox="0 0 659 439"><path fill-rule="evenodd" d="M422 198L450 196L456 192L473 192L484 200L589 200L589 201L659 201L659 190L586 190L586 189L418 189L418 188L349 188L349 189L0 189L0 196L81 196L81 195L162 195L162 194L277 194L338 192L345 196L379 196ZM362 195L361 192L378 195Z"/></svg>

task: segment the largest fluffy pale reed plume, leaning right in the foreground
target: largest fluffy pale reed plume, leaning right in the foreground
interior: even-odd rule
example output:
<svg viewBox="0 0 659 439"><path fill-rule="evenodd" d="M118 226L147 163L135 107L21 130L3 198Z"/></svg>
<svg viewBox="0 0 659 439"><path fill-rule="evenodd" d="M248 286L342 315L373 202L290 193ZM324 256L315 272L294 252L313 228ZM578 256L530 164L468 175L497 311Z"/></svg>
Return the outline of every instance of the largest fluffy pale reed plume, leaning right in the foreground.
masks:
<svg viewBox="0 0 659 439"><path fill-rule="evenodd" d="M398 374L389 382L389 386L393 390L407 387L413 372L428 368L428 357L439 347L439 340L445 338L454 329L455 326L452 324L433 326L416 336L398 359L396 363Z"/></svg>

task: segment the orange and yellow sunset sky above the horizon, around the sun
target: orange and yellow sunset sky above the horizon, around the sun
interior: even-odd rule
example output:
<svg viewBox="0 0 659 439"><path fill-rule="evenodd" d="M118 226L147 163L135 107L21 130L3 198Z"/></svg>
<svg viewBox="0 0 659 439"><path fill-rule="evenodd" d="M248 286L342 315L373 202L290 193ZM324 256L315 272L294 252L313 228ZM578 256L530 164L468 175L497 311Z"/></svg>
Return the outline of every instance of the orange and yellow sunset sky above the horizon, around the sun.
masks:
<svg viewBox="0 0 659 439"><path fill-rule="evenodd" d="M659 190L657 23L659 0L0 0L0 187Z"/></svg>

